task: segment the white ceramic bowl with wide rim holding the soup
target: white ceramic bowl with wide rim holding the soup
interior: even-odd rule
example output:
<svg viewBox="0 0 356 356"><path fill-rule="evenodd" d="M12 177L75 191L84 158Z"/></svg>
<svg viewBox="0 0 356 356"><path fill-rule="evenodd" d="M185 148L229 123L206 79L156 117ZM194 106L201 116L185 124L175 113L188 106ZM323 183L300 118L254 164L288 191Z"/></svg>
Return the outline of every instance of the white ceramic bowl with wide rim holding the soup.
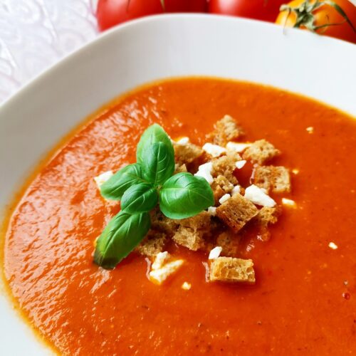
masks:
<svg viewBox="0 0 356 356"><path fill-rule="evenodd" d="M137 85L180 75L236 78L308 95L356 115L355 63L355 45L246 19L167 15L114 28L0 108L0 209L63 135ZM51 352L4 293L0 315L1 355Z"/></svg>

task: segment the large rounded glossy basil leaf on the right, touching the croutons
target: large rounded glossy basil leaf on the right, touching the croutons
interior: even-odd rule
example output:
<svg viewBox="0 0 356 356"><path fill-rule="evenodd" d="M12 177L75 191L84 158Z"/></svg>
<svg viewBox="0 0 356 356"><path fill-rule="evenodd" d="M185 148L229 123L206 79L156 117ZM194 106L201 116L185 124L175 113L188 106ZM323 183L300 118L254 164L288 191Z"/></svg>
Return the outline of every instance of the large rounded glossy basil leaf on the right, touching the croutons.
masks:
<svg viewBox="0 0 356 356"><path fill-rule="evenodd" d="M206 179L190 173L169 178L159 192L159 208L169 219L185 219L214 205L214 196Z"/></svg>

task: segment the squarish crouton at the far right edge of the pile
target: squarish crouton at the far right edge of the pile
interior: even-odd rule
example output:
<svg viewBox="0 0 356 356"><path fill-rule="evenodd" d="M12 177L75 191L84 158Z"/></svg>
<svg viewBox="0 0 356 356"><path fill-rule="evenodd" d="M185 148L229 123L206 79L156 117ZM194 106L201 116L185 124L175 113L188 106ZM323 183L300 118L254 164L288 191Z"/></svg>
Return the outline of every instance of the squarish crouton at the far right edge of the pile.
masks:
<svg viewBox="0 0 356 356"><path fill-rule="evenodd" d="M290 174L283 166L256 167L253 172L253 182L256 186L266 189L267 192L290 192Z"/></svg>

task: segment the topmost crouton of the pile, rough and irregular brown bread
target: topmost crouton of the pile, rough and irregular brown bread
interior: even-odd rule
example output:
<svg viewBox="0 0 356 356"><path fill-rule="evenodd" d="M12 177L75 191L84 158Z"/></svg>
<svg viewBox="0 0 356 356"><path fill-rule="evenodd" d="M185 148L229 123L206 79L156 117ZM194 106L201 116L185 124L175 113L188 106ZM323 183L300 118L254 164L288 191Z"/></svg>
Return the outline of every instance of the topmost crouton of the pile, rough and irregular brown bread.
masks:
<svg viewBox="0 0 356 356"><path fill-rule="evenodd" d="M209 142L215 145L226 146L231 140L236 140L245 134L244 130L238 125L231 116L225 115L214 125L215 130L207 136Z"/></svg>

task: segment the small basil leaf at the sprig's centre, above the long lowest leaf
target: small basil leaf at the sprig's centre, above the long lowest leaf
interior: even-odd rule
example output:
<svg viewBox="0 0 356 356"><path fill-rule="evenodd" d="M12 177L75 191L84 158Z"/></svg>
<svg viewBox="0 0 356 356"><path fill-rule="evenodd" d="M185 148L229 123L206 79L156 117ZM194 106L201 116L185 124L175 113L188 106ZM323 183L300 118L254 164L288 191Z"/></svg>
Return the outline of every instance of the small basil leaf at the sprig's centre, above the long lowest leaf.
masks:
<svg viewBox="0 0 356 356"><path fill-rule="evenodd" d="M152 210L157 202L157 189L150 183L140 183L132 185L122 195L121 209L128 214L144 213Z"/></svg>

